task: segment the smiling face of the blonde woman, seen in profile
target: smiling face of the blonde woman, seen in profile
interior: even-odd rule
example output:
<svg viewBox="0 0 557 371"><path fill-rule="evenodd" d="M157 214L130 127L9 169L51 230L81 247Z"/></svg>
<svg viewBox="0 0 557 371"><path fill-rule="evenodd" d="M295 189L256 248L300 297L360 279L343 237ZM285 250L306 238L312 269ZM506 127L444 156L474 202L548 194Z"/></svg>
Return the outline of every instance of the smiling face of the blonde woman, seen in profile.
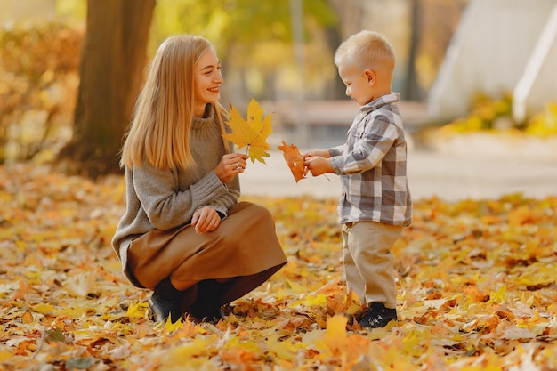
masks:
<svg viewBox="0 0 557 371"><path fill-rule="evenodd" d="M213 48L203 53L194 68L194 115L203 117L207 103L215 103L221 99L221 63Z"/></svg>

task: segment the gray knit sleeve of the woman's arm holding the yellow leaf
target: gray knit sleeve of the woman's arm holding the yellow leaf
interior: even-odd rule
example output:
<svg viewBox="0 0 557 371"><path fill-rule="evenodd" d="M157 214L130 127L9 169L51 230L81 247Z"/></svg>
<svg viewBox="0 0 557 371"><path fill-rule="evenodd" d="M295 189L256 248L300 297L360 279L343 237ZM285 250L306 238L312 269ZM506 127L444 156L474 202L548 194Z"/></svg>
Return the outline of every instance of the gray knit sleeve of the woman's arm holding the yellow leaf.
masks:
<svg viewBox="0 0 557 371"><path fill-rule="evenodd" d="M186 190L178 190L177 174L144 163L133 169L133 186L149 222L158 230L169 230L191 221L199 206L212 205L228 193L214 172L206 173ZM220 210L219 210L220 211Z"/></svg>

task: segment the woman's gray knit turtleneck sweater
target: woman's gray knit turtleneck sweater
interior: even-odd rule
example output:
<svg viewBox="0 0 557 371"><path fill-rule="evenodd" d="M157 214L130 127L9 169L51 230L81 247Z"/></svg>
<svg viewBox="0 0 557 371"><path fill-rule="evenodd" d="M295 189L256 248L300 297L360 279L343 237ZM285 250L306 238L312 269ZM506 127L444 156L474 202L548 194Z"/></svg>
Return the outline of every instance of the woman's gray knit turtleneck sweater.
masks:
<svg viewBox="0 0 557 371"><path fill-rule="evenodd" d="M125 248L120 249L123 242L149 230L170 230L187 224L199 206L213 206L226 215L238 202L238 176L224 185L214 173L225 151L212 105L207 105L206 118L194 117L190 149L196 165L188 170L157 170L146 161L125 169L126 210L112 238L124 268L126 257L121 254L125 255Z"/></svg>

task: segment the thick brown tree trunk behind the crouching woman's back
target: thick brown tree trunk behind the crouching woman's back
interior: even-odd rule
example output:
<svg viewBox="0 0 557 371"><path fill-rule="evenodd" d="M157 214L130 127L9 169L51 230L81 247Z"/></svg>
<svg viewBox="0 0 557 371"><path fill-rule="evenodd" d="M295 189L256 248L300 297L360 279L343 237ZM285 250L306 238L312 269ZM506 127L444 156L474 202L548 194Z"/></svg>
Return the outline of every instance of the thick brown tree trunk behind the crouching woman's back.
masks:
<svg viewBox="0 0 557 371"><path fill-rule="evenodd" d="M118 151L143 81L155 1L87 1L74 135L60 156L69 171L92 178L120 171Z"/></svg>

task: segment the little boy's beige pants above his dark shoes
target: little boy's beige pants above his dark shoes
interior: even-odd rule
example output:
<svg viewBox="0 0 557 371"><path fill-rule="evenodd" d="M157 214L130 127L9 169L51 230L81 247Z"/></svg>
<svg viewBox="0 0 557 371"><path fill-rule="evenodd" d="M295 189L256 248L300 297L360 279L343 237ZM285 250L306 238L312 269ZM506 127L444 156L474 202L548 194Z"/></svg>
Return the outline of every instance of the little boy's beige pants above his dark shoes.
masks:
<svg viewBox="0 0 557 371"><path fill-rule="evenodd" d="M383 302L387 308L397 307L391 247L401 230L378 222L343 225L346 286L359 295L362 304Z"/></svg>

